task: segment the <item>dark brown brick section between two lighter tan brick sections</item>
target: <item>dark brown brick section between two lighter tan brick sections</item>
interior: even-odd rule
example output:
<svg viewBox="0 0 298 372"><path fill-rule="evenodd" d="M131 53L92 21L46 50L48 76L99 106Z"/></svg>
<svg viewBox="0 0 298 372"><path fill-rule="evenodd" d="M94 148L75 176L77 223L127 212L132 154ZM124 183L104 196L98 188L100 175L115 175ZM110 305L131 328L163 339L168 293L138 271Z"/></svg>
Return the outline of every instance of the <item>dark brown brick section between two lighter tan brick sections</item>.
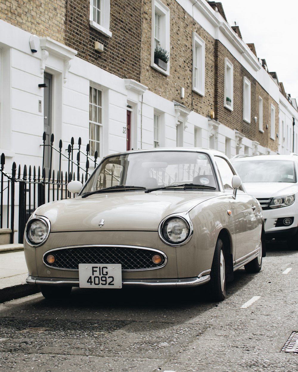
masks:
<svg viewBox="0 0 298 372"><path fill-rule="evenodd" d="M121 78L140 80L141 7L139 0L110 3L109 38L89 26L89 0L67 2L66 45L77 56ZM94 49L95 41L104 51Z"/></svg>

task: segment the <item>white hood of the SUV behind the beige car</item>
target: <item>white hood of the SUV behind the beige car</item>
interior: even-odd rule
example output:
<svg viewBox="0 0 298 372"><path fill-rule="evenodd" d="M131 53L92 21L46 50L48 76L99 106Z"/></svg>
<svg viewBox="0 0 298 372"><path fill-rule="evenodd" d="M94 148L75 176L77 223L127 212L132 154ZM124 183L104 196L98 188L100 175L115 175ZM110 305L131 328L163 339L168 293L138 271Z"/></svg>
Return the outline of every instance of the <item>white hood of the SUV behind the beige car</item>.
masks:
<svg viewBox="0 0 298 372"><path fill-rule="evenodd" d="M273 198L292 195L298 190L297 183L288 182L245 182L245 190L255 198Z"/></svg>

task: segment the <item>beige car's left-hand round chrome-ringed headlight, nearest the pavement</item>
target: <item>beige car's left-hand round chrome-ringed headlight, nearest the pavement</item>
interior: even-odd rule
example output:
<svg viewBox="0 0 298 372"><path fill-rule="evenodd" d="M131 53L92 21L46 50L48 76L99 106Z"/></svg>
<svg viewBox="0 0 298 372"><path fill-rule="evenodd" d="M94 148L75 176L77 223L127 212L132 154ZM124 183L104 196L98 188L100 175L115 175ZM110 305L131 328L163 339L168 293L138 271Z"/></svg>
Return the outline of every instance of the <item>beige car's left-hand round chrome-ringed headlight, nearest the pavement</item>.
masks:
<svg viewBox="0 0 298 372"><path fill-rule="evenodd" d="M45 217L34 217L28 221L25 231L27 243L40 246L50 234L50 221Z"/></svg>

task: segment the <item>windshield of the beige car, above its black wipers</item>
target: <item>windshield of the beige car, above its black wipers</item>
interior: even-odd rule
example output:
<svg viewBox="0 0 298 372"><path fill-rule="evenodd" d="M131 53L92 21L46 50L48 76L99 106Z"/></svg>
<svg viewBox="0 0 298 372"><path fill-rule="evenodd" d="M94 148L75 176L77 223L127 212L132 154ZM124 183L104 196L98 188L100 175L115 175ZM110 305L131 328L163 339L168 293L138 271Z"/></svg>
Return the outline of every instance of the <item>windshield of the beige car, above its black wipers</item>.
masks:
<svg viewBox="0 0 298 372"><path fill-rule="evenodd" d="M112 191L154 189L189 183L215 189L217 183L214 174L209 156L195 151L120 154L102 160L80 195L107 188Z"/></svg>

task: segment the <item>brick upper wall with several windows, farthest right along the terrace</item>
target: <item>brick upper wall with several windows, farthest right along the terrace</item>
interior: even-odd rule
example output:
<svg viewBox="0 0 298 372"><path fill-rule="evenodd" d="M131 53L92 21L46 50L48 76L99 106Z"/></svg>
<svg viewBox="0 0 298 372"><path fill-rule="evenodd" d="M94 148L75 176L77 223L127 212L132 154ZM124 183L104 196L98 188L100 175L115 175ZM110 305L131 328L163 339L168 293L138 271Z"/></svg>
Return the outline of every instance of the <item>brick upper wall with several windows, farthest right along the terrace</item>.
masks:
<svg viewBox="0 0 298 372"><path fill-rule="evenodd" d="M225 57L233 64L234 69L234 98L233 111L225 108L224 76ZM278 151L278 141L270 139L270 104L275 106L275 134L278 132L278 103L260 86L248 71L216 40L215 42L215 119L231 129L237 129L250 140L257 141L261 146ZM243 77L251 83L251 119L250 124L243 120ZM259 96L263 99L263 130L259 131ZM258 118L257 123L254 117ZM266 128L268 125L268 129Z"/></svg>

